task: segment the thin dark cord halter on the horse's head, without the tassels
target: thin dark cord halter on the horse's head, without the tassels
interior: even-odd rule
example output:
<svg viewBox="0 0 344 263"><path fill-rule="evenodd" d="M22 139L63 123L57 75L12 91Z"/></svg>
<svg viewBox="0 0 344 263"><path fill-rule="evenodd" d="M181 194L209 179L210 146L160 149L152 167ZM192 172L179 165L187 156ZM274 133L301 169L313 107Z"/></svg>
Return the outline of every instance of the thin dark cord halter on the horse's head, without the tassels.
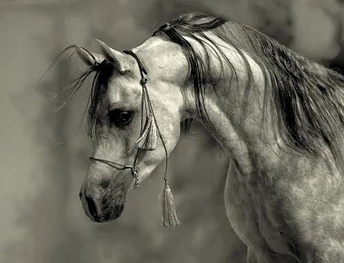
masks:
<svg viewBox="0 0 344 263"><path fill-rule="evenodd" d="M145 78L144 75L147 75L147 71L145 70L145 67L143 66L143 64L141 63L140 59L137 57L137 55L132 52L132 51L123 51L123 53L126 53L128 55L132 55L133 58L135 58L137 64L138 64L138 68L140 69L140 75L141 75L141 80L140 80L140 85L143 88L143 94L145 94L146 99L147 99L147 103L149 104L149 110L151 111L151 114L154 116L153 113L153 109L151 108L151 102L149 100L149 96L148 96L148 92L147 92L147 78ZM144 104L145 104L145 97L143 95L143 99L142 99L142 105L141 105L141 130L140 130L140 136L143 134L143 112L144 112ZM155 116L154 116L154 120L155 120ZM158 131L158 136L160 137L160 140L162 141L162 146L164 147L164 151L166 153L166 161L167 161L167 148L166 145L164 143L164 140L162 138L162 134L160 132L160 129L158 128L158 125L156 125L156 129ZM136 156L134 159L134 164L133 165L123 165L123 164L119 164L117 162L112 162L112 161L108 161L108 160L104 160L104 159L99 159L99 158L95 158L95 157L90 157L90 160L95 160L98 162L103 162L105 164L108 164L114 168L116 168L117 170L125 170L125 169L130 169L132 171L132 177L134 178L134 188L138 187L138 166L136 165L136 163L138 162L138 157L140 155L140 151L141 149L138 148L138 151L136 152ZM167 162L166 165L164 166L164 180L165 182L167 181Z"/></svg>

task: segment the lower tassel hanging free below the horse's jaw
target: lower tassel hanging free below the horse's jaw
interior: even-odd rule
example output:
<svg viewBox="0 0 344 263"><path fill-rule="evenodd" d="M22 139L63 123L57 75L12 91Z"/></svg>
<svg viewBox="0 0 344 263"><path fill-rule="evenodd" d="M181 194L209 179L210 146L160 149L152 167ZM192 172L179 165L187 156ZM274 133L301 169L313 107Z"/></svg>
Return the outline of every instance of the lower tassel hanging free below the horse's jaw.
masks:
<svg viewBox="0 0 344 263"><path fill-rule="evenodd" d="M162 225L164 227L180 225L180 221L175 212L175 206L173 203L173 195L169 184L167 184L167 177L164 177L165 186L162 191L161 204L162 204Z"/></svg>

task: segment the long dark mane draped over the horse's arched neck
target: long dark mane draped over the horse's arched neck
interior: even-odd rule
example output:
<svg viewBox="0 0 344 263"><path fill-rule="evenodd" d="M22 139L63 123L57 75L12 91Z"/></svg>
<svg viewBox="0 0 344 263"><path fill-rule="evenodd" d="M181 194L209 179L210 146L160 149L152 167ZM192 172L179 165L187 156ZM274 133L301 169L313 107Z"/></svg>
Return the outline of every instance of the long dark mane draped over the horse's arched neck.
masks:
<svg viewBox="0 0 344 263"><path fill-rule="evenodd" d="M206 34L207 33L207 34ZM188 60L189 76L193 80L197 110L203 121L212 127L204 107L206 82L212 77L210 52L215 51L232 68L229 58L216 48L210 50L204 40L219 47L209 34L227 42L245 61L248 81L245 95L253 85L253 73L243 51L260 66L265 78L264 112L272 118L273 129L282 142L295 153L310 155L328 163L323 145L327 145L341 171L343 161L344 77L340 73L310 61L284 47L258 30L208 16L198 12L182 14L159 27L153 35L162 35L182 47ZM186 39L197 40L205 51L205 58ZM216 92L216 90L214 90ZM245 96L247 97L247 96ZM247 101L243 101L243 109ZM269 111L269 112L267 112ZM262 120L263 123L264 119Z"/></svg>

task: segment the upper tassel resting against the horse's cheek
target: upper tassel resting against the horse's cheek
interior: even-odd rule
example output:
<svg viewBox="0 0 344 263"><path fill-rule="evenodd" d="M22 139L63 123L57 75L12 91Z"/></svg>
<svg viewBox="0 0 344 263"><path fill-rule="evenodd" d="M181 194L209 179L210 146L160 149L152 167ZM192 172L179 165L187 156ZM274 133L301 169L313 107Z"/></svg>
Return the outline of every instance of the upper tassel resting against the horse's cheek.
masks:
<svg viewBox="0 0 344 263"><path fill-rule="evenodd" d="M158 131L156 129L156 122L154 121L153 114L149 114L145 129L140 138L136 141L136 146L140 149L153 151L156 149L158 142Z"/></svg>

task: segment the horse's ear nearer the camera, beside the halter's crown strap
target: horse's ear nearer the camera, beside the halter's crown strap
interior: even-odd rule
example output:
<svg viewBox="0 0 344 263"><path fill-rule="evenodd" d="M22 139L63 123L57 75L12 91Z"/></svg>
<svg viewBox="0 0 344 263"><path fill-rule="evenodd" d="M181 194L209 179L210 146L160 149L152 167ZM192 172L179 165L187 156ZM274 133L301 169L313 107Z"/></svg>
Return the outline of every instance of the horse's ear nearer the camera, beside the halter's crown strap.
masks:
<svg viewBox="0 0 344 263"><path fill-rule="evenodd" d="M116 51L106 45L103 41L96 39L99 46L101 47L101 51L106 56L106 59L112 62L115 68L120 72L124 73L125 71L132 70L132 60L127 57L124 53L120 51Z"/></svg>

